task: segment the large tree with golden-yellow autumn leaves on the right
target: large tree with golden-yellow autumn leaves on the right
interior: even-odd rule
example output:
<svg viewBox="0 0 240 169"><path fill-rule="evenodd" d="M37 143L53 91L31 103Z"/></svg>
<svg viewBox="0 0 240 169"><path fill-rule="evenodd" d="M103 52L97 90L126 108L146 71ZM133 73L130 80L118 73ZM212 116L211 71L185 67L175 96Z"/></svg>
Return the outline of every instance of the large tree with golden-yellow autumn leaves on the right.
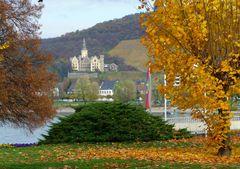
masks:
<svg viewBox="0 0 240 169"><path fill-rule="evenodd" d="M207 124L219 156L231 155L230 98L240 93L239 0L140 0L143 44L155 72L164 70L174 105ZM179 86L174 86L180 77Z"/></svg>

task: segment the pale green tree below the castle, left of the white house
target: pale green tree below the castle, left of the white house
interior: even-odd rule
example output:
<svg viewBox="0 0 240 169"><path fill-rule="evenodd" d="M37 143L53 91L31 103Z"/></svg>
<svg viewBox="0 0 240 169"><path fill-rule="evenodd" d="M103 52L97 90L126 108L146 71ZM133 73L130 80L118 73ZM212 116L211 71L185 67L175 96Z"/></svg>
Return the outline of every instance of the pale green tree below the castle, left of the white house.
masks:
<svg viewBox="0 0 240 169"><path fill-rule="evenodd" d="M74 98L87 101L95 101L98 98L99 86L97 82L90 80L89 76L82 76L77 80Z"/></svg>

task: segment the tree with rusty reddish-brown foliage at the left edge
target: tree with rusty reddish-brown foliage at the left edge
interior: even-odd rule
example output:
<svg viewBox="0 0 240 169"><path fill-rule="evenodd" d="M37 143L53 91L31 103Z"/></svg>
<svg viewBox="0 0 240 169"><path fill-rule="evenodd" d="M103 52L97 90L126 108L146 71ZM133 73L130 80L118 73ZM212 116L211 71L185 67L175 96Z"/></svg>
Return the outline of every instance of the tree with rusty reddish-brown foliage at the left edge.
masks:
<svg viewBox="0 0 240 169"><path fill-rule="evenodd" d="M55 76L40 51L41 5L0 0L0 122L33 129L55 115L50 99Z"/></svg>

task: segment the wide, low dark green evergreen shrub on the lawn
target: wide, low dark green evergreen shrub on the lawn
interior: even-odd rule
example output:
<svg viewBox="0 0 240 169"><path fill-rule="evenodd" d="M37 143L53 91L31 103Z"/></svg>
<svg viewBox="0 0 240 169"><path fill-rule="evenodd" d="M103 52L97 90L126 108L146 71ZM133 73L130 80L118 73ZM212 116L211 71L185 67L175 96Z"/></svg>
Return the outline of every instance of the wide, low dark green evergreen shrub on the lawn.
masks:
<svg viewBox="0 0 240 169"><path fill-rule="evenodd" d="M175 138L173 125L147 113L143 107L124 103L92 103L53 124L40 144L125 142ZM189 132L177 132L177 138Z"/></svg>

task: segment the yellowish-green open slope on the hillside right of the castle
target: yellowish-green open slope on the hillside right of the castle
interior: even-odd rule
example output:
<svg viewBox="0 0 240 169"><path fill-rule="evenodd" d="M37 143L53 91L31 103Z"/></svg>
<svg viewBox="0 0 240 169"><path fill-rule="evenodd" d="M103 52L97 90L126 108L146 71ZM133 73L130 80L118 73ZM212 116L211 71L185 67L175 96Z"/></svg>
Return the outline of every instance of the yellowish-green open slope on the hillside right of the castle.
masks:
<svg viewBox="0 0 240 169"><path fill-rule="evenodd" d="M122 57L127 65L146 70L147 51L139 39L121 41L109 51L109 55Z"/></svg>

